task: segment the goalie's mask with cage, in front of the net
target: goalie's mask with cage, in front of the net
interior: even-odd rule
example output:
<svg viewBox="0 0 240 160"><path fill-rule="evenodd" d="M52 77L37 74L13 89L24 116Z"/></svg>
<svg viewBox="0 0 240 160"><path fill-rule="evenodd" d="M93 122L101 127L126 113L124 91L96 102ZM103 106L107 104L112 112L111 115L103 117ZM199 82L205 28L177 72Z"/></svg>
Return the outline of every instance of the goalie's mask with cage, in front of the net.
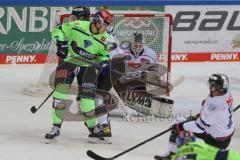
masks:
<svg viewBox="0 0 240 160"><path fill-rule="evenodd" d="M143 37L141 33L134 33L131 42L131 51L134 56L138 57L143 52Z"/></svg>

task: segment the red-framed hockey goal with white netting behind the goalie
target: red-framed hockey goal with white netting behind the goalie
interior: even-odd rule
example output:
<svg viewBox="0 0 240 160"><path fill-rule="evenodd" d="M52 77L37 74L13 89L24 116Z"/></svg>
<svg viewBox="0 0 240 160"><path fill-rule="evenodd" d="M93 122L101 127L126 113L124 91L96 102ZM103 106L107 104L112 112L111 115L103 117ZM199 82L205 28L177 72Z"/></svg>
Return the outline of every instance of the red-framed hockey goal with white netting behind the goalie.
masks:
<svg viewBox="0 0 240 160"><path fill-rule="evenodd" d="M117 43L129 41L134 32L142 33L144 44L154 49L158 54L158 63L166 68L162 76L164 81L170 82L171 72L171 31L172 16L157 11L110 11L113 14ZM69 13L58 13L56 24L68 22ZM24 88L24 94L30 96L43 96L51 93L48 81L50 74L58 64L56 45L51 44L42 73L36 83Z"/></svg>

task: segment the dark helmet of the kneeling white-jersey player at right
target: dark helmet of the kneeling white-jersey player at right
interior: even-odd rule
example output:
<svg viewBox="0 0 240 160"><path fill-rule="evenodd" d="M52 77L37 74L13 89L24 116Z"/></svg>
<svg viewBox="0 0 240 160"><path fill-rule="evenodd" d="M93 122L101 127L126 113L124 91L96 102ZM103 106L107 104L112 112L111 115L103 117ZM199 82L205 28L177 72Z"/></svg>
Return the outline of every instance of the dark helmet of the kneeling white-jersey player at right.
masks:
<svg viewBox="0 0 240 160"><path fill-rule="evenodd" d="M227 92L229 87L229 80L225 74L212 74L208 79L208 85L214 86L216 91Z"/></svg>

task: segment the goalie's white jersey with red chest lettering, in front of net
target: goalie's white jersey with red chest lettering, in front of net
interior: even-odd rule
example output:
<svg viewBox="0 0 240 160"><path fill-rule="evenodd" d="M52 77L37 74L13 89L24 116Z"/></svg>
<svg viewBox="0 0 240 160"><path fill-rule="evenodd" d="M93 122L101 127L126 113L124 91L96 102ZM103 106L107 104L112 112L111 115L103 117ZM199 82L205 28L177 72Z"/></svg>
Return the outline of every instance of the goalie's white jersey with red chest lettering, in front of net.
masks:
<svg viewBox="0 0 240 160"><path fill-rule="evenodd" d="M122 50L119 47L110 53L110 59L119 56L129 57L129 59L125 61L128 71L144 70L144 67L147 66L146 64L157 63L156 52L146 46L144 46L143 53L137 57L131 53L130 49Z"/></svg>

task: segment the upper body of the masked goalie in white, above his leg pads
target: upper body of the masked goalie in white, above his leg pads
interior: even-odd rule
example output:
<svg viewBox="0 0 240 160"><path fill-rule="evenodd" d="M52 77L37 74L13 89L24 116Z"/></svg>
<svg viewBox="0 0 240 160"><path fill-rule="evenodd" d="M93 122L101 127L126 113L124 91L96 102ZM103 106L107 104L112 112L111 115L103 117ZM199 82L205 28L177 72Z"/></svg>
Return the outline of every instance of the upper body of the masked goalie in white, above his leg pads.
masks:
<svg viewBox="0 0 240 160"><path fill-rule="evenodd" d="M125 59L121 64L114 62L114 59L119 57L127 57L127 60ZM166 73L166 67L157 63L157 53L153 49L143 45L141 33L134 33L130 43L121 43L110 53L110 59L113 61L113 69L125 72L124 76L116 78L117 88L114 88L119 92L127 90L126 87L129 86L134 90L146 90L146 84L157 88L154 93L157 96L166 93L167 89L172 89L171 84L161 80L161 76ZM143 82L140 82L140 77ZM130 81L131 83L127 83Z"/></svg>

